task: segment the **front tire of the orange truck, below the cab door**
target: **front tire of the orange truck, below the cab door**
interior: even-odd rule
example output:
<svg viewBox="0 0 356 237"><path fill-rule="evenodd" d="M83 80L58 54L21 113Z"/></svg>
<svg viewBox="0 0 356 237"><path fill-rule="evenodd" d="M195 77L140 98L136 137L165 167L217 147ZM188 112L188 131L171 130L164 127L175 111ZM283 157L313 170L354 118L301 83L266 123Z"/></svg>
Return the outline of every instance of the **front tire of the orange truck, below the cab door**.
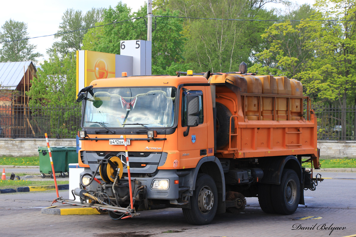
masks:
<svg viewBox="0 0 356 237"><path fill-rule="evenodd" d="M193 196L190 197L191 209L182 209L185 220L192 225L209 224L218 209L218 189L208 174L198 174Z"/></svg>

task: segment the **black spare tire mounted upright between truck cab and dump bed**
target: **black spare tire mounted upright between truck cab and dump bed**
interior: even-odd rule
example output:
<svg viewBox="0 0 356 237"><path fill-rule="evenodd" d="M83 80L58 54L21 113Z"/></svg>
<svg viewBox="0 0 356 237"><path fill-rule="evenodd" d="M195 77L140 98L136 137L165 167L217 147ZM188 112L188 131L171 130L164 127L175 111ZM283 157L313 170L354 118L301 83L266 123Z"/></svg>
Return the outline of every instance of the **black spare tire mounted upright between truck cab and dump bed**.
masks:
<svg viewBox="0 0 356 237"><path fill-rule="evenodd" d="M232 116L230 110L219 102L216 102L216 149L223 149L229 143L229 123ZM235 124L231 120L231 134L234 133Z"/></svg>

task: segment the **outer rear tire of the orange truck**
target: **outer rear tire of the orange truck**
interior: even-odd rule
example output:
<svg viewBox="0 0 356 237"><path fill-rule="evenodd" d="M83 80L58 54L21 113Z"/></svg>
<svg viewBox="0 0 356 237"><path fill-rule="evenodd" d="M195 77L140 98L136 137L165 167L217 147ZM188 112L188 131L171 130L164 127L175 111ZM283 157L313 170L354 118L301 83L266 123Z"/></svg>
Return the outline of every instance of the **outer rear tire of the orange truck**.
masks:
<svg viewBox="0 0 356 237"><path fill-rule="evenodd" d="M291 215L300 199L300 181L293 169L284 169L281 184L272 185L273 208L278 214Z"/></svg>

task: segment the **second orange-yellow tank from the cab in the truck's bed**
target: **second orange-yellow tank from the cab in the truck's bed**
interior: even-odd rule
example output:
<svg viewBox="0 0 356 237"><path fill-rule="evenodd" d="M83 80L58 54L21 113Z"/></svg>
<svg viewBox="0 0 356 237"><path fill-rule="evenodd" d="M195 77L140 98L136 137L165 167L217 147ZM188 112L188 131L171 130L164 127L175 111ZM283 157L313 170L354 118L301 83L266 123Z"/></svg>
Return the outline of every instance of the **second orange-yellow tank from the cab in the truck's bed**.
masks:
<svg viewBox="0 0 356 237"><path fill-rule="evenodd" d="M262 94L262 82L258 77L252 75L241 75L247 81L247 93L257 93ZM248 120L262 120L260 117L260 111L258 111L258 104L260 103L260 97L258 96L247 96L244 103L245 106L245 116ZM260 107L262 108L262 106Z"/></svg>

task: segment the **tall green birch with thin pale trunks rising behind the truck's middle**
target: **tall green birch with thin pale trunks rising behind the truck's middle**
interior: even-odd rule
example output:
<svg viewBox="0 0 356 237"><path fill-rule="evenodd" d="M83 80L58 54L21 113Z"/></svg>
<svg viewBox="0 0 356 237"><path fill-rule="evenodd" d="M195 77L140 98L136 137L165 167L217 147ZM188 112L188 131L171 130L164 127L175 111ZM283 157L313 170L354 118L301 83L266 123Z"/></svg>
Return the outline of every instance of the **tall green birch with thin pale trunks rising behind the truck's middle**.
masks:
<svg viewBox="0 0 356 237"><path fill-rule="evenodd" d="M180 15L200 18L223 19L272 19L273 11L262 9L267 1L254 0L170 0L171 9ZM184 47L185 62L194 64L194 71L237 71L241 61L250 63L250 57L262 42L261 32L271 25L269 22L234 20L188 19L184 36L188 38Z"/></svg>

